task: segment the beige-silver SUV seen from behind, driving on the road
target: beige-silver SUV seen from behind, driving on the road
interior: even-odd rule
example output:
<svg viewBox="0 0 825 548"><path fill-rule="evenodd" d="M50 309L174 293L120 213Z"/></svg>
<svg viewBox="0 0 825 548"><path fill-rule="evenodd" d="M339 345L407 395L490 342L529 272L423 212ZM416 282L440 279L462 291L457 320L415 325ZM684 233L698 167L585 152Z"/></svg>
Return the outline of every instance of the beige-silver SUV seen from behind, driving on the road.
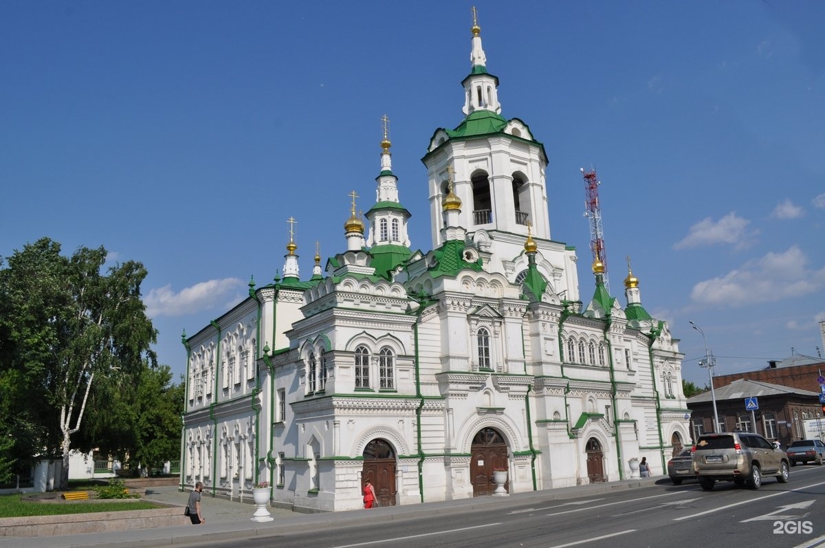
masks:
<svg viewBox="0 0 825 548"><path fill-rule="evenodd" d="M713 489L716 481L733 481L737 485L747 481L751 489L759 489L762 475L776 475L776 480L784 484L789 470L785 451L759 434L702 434L693 446L693 471L705 491Z"/></svg>

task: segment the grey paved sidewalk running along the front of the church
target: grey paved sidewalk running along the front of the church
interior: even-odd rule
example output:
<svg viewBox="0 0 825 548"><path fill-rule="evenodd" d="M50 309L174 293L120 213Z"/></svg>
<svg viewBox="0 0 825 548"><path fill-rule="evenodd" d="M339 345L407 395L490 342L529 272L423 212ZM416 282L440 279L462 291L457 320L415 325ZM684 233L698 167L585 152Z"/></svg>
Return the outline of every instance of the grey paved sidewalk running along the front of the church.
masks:
<svg viewBox="0 0 825 548"><path fill-rule="evenodd" d="M237 539L239 535L270 536L277 535L285 529L300 531L320 527L336 527L342 522L351 525L361 520L375 518L380 513L383 519L410 519L434 514L464 512L472 508L494 508L510 506L512 503L529 502L531 499L559 499L587 496L588 494L606 493L616 489L632 489L652 485L667 476L635 480L614 481L605 484L578 485L544 491L511 494L508 497L478 497L460 500L440 501L435 503L408 504L375 508L369 512L353 510L350 512L303 514L280 508L269 508L274 521L252 522L255 506L247 503L232 502L224 498L211 498L204 494L201 504L206 520L205 525L194 526L183 516L183 507L189 496L177 490L177 487L156 487L147 489L148 500L160 503L178 504L181 507L181 525L174 527L155 527L133 529L130 531L106 531L82 535L65 536L2 536L3 548L76 548L80 546L116 546L117 548L154 548L158 546L186 546L203 541L220 541Z"/></svg>

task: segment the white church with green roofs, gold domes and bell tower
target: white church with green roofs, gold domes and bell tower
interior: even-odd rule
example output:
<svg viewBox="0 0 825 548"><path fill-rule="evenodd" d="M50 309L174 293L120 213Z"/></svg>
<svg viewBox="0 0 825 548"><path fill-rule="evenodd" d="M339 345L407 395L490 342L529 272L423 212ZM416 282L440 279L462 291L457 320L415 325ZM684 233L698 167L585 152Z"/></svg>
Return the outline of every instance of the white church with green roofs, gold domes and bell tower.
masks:
<svg viewBox="0 0 825 548"><path fill-rule="evenodd" d="M409 248L387 131L375 204L344 223L342 253L283 276L198 333L188 356L181 485L276 505L382 506L666 474L690 442L678 341L625 305L604 267L582 272L551 237L544 146L501 116L498 80L472 27L464 119L432 135L432 250Z"/></svg>

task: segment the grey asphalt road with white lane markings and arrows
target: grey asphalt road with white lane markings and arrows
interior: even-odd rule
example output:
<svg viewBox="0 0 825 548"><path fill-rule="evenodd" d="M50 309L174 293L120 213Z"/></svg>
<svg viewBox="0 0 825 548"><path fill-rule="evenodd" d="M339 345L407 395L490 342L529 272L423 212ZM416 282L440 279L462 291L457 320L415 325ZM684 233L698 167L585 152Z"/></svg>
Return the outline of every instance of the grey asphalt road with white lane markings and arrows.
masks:
<svg viewBox="0 0 825 548"><path fill-rule="evenodd" d="M766 478L758 490L722 482L708 492L694 480L661 480L589 497L198 546L825 546L825 466L796 466L788 484Z"/></svg>

